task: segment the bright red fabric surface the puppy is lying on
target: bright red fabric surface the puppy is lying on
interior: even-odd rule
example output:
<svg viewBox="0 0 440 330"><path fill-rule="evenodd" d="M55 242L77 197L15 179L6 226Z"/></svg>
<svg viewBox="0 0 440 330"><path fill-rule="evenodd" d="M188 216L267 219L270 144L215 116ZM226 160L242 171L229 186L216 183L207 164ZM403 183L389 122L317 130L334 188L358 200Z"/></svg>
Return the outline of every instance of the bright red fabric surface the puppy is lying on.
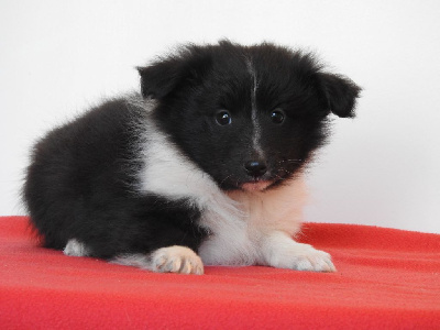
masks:
<svg viewBox="0 0 440 330"><path fill-rule="evenodd" d="M440 235L306 223L338 273L154 274L38 248L0 218L2 329L440 329Z"/></svg>

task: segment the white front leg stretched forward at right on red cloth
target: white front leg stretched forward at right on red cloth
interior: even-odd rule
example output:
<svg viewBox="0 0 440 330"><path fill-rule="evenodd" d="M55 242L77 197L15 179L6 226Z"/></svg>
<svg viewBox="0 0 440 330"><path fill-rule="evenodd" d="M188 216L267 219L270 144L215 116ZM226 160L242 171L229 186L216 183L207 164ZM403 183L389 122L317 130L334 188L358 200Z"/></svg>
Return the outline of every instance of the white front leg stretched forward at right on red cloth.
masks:
<svg viewBox="0 0 440 330"><path fill-rule="evenodd" d="M263 239L264 264L297 271L336 272L330 254L309 244L295 242L288 234L276 231Z"/></svg>

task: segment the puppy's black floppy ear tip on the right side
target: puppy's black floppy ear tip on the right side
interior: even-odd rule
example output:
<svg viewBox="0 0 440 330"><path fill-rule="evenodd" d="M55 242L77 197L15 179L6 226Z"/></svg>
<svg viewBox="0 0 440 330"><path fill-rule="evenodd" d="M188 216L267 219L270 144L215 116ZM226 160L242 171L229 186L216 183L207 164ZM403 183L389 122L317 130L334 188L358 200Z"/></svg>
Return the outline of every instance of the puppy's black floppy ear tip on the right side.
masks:
<svg viewBox="0 0 440 330"><path fill-rule="evenodd" d="M328 109L339 117L355 116L354 108L361 88L346 77L333 74L318 74L320 91Z"/></svg>

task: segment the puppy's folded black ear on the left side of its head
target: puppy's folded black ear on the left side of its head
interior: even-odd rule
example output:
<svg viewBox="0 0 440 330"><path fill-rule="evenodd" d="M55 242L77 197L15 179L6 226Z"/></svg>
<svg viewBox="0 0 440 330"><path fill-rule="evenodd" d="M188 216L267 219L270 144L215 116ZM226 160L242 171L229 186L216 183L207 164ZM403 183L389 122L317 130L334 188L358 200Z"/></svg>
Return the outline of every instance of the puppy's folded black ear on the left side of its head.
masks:
<svg viewBox="0 0 440 330"><path fill-rule="evenodd" d="M144 98L163 99L183 84L196 84L209 65L209 56L201 48L188 47L177 56L169 56L150 66L138 67Z"/></svg>

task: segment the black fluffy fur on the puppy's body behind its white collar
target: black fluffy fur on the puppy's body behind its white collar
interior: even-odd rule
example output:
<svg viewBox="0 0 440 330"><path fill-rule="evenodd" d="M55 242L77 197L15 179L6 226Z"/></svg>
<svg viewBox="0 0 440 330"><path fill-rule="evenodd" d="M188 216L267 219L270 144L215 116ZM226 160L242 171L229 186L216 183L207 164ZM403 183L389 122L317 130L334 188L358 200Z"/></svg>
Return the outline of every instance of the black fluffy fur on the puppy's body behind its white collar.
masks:
<svg viewBox="0 0 440 330"><path fill-rule="evenodd" d="M194 226L198 209L133 191L141 116L109 101L35 145L24 198L46 248L62 250L75 238L103 258L174 244L197 250L206 234Z"/></svg>

